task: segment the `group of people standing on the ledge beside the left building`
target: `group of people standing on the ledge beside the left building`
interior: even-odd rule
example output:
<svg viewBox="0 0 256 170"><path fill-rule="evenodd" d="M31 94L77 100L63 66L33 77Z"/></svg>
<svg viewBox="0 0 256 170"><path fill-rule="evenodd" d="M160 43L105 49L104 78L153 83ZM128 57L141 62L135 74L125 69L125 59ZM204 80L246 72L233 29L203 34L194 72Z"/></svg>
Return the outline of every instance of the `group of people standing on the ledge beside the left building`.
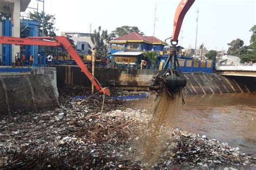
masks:
<svg viewBox="0 0 256 170"><path fill-rule="evenodd" d="M53 57L52 54L50 53L47 57L47 66L50 67ZM23 52L22 55L17 52L15 54L15 66L24 66L24 64L26 63L26 56L25 53ZM31 55L31 53L29 54L29 66L33 65L33 56ZM38 65L42 66L43 65L43 57L40 53L38 53Z"/></svg>

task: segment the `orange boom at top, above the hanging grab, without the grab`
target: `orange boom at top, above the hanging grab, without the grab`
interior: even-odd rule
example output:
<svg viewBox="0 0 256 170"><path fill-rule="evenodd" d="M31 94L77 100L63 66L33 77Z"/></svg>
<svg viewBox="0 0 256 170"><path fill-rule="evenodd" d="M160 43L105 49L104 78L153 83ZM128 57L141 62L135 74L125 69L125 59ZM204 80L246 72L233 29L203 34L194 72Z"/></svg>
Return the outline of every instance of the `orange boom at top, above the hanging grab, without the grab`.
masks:
<svg viewBox="0 0 256 170"><path fill-rule="evenodd" d="M181 29L181 25L183 22L183 19L187 13L187 11L190 9L192 4L194 3L195 0L181 0L174 16L174 21L173 21L173 32L172 32L172 39L171 42L176 42L178 43L178 37L179 37L179 32Z"/></svg>

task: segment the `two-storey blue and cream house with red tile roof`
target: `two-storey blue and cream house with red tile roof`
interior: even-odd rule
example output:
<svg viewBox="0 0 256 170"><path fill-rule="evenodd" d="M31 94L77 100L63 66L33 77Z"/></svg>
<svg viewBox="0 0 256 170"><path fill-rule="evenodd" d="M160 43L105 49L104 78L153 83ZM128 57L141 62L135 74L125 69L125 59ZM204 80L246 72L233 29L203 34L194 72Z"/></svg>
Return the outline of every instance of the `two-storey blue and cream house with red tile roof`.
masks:
<svg viewBox="0 0 256 170"><path fill-rule="evenodd" d="M125 64L140 64L143 51L156 51L162 55L167 45L154 36L142 36L136 32L115 38L109 43L114 62Z"/></svg>

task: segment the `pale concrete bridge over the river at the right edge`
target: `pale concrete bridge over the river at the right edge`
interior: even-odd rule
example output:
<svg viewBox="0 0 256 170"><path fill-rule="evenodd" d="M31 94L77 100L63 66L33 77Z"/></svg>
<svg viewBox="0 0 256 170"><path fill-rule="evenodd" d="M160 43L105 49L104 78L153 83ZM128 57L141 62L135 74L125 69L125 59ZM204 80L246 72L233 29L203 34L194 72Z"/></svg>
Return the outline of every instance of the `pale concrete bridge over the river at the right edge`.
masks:
<svg viewBox="0 0 256 170"><path fill-rule="evenodd" d="M250 65L216 66L215 71L221 76L256 77L256 66L250 66Z"/></svg>

